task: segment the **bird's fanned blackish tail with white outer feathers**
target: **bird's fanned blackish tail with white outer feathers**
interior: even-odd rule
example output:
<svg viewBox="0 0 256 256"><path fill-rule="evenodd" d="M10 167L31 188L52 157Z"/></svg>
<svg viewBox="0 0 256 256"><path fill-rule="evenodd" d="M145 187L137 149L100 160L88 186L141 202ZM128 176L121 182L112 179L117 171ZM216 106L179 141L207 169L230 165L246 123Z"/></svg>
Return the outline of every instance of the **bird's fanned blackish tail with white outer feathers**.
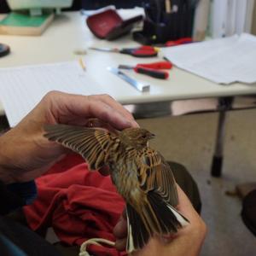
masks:
<svg viewBox="0 0 256 256"><path fill-rule="evenodd" d="M147 244L149 237L167 235L189 224L189 220L154 191L148 192L148 201L141 207L140 214L127 204L128 239L126 250L131 253Z"/></svg>

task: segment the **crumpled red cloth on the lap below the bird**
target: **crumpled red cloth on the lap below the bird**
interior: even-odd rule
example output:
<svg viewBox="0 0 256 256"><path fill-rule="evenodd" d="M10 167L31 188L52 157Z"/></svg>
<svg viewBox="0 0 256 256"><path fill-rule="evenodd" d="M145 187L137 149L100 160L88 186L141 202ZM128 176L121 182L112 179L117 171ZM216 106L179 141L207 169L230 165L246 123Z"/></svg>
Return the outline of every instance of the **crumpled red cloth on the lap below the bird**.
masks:
<svg viewBox="0 0 256 256"><path fill-rule="evenodd" d="M38 199L24 207L32 230L52 227L68 245L90 238L114 241L113 227L125 203L110 177L88 171L77 155L68 156L36 180ZM90 246L93 255L119 255L113 248Z"/></svg>

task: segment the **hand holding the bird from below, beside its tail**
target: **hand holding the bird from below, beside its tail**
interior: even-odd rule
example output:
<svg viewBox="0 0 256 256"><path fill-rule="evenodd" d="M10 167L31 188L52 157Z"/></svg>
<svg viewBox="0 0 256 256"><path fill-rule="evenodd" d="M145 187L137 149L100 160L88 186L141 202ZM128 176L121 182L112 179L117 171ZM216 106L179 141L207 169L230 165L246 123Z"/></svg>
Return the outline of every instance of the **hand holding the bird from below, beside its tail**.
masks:
<svg viewBox="0 0 256 256"><path fill-rule="evenodd" d="M194 207L191 205L188 197L183 190L177 185L177 193L179 198L179 205L177 210L189 219L190 224L179 230L177 234L170 237L153 237L142 250L132 253L133 256L195 256L200 253L201 245L207 233L207 227ZM113 235L117 240L115 247L119 251L125 250L127 223L125 213L116 224Z"/></svg>

